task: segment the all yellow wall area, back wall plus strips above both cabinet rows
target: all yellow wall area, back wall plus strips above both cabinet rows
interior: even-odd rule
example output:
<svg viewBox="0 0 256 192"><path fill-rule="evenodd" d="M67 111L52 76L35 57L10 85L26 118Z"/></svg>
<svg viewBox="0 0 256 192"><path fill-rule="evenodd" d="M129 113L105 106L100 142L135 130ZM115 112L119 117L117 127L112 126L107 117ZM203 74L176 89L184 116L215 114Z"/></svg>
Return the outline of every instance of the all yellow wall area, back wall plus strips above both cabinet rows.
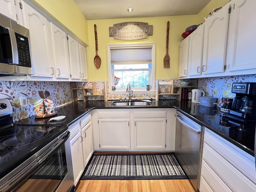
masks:
<svg viewBox="0 0 256 192"><path fill-rule="evenodd" d="M87 46L88 80L108 80L107 45L125 43L156 43L156 78L178 78L179 68L179 45L183 40L181 34L190 25L204 22L204 17L213 8L223 6L227 0L211 0L208 5L197 15L168 16L149 18L109 19L109 20L86 20L73 0L35 0L50 14L69 28ZM163 59L166 54L166 23L170 21L169 32L169 56L170 68L163 67ZM109 37L108 27L120 22L147 22L153 25L153 35L142 40L114 40ZM95 40L94 24L97 25L98 55L101 58L101 66L94 66Z"/></svg>

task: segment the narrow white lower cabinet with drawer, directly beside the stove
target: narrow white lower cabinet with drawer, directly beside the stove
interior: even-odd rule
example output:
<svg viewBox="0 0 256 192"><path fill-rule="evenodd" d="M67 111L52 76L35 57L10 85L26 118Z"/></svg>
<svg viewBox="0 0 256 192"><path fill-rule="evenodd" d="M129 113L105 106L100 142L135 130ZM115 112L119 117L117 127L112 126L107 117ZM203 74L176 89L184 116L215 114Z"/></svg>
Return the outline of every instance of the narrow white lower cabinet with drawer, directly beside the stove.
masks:
<svg viewBox="0 0 256 192"><path fill-rule="evenodd" d="M76 186L80 176L84 171L83 146L79 121L72 124L68 129L70 130L70 148L74 174L74 185Z"/></svg>

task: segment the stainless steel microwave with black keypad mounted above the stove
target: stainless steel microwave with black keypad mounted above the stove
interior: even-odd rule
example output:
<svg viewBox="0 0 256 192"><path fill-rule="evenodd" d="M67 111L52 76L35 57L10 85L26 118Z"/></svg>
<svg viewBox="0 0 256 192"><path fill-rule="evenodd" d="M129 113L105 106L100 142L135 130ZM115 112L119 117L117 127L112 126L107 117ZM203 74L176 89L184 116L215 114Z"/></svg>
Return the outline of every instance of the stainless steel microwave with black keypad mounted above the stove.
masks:
<svg viewBox="0 0 256 192"><path fill-rule="evenodd" d="M34 74L29 30L0 14L0 76Z"/></svg>

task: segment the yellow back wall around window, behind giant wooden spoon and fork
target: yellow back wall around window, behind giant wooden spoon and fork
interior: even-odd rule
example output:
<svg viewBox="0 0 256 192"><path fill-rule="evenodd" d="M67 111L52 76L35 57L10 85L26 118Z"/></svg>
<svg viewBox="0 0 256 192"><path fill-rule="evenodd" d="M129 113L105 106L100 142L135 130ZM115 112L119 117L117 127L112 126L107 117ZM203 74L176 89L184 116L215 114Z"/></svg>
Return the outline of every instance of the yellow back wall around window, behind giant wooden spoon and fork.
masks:
<svg viewBox="0 0 256 192"><path fill-rule="evenodd" d="M170 21L169 30L169 56L170 68L164 68L163 60L166 54L166 27ZM109 37L109 27L121 22L147 22L153 25L153 35L142 40L115 40ZM94 66L95 39L94 24L97 25L98 34L98 55L101 58L101 66L96 69ZM181 34L186 27L198 24L196 15L189 16L169 16L150 18L129 18L129 19L108 19L108 20L88 20L89 44L87 50L87 65L89 80L108 80L107 45L127 44L127 43L156 43L156 78L178 78L179 47L183 40Z"/></svg>

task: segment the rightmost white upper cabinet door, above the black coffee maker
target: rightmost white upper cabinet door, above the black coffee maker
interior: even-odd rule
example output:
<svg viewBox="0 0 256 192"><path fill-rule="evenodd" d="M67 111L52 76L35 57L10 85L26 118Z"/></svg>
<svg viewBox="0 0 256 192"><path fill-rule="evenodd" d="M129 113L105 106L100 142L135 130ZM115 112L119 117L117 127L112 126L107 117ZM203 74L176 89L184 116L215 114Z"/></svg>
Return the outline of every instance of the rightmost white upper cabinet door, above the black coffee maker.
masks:
<svg viewBox="0 0 256 192"><path fill-rule="evenodd" d="M256 68L255 8L254 0L231 2L227 53L229 71ZM255 74L255 71L250 70L249 73Z"/></svg>

